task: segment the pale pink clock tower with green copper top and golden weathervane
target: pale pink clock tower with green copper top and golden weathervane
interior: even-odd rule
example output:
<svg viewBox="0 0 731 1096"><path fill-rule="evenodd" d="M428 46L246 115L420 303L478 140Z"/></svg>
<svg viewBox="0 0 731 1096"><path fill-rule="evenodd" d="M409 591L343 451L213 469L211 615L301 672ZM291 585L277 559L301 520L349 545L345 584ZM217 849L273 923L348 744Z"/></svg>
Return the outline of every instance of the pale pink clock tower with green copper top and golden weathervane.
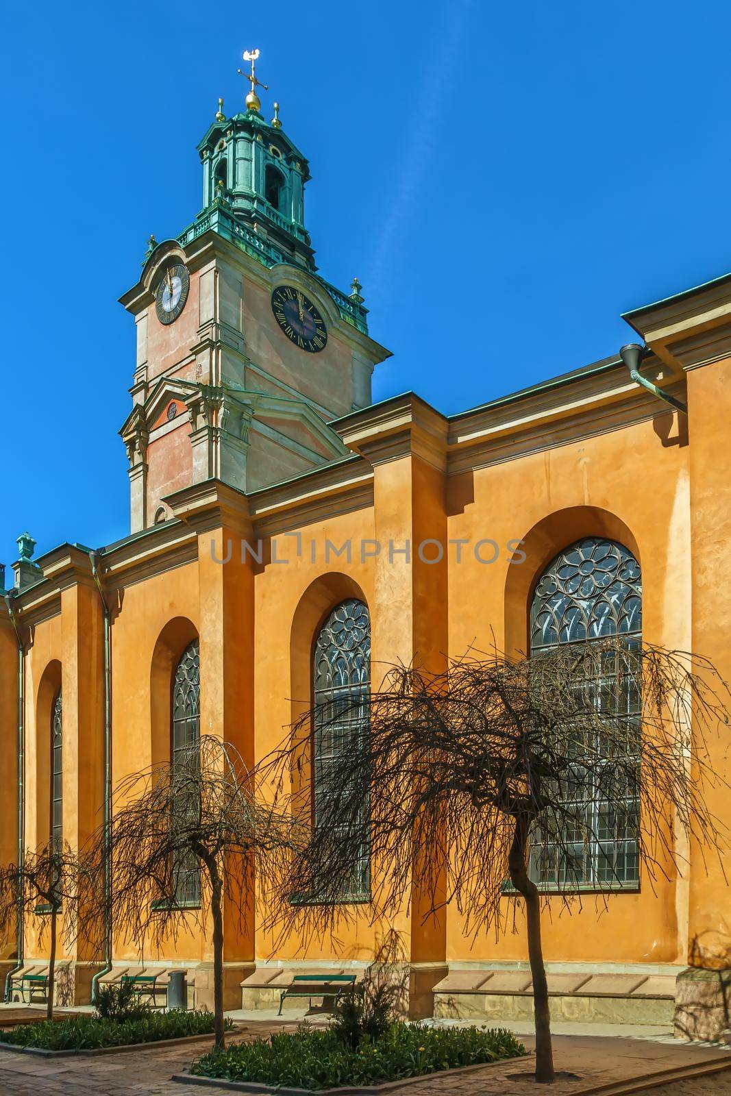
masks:
<svg viewBox="0 0 731 1096"><path fill-rule="evenodd" d="M370 339L350 293L318 273L305 227L309 164L266 122L259 50L245 110L222 101L198 155L203 208L179 237L150 238L121 298L137 327L133 409L122 427L136 533L170 516L165 496L215 477L244 492L344 456L329 423L370 403Z"/></svg>

